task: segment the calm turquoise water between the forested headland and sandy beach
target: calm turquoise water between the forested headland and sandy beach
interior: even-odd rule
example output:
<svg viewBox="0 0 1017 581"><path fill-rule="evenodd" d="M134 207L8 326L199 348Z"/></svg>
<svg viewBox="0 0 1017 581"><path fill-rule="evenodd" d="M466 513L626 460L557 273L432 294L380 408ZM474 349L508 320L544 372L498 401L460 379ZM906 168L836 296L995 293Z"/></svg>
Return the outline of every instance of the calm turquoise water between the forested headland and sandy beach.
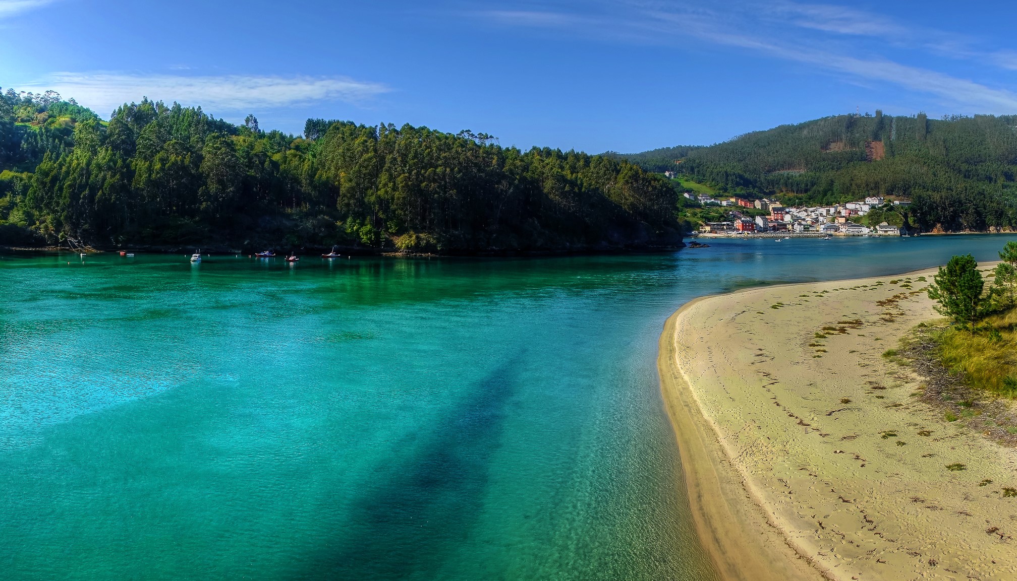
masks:
<svg viewBox="0 0 1017 581"><path fill-rule="evenodd" d="M1006 240L2 255L0 576L714 579L658 391L664 319Z"/></svg>

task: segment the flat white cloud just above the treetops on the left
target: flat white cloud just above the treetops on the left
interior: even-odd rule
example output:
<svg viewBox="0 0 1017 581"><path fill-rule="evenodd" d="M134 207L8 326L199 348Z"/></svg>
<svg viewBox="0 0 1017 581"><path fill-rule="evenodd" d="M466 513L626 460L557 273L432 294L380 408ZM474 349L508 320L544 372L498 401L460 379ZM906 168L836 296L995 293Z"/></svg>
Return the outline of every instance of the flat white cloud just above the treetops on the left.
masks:
<svg viewBox="0 0 1017 581"><path fill-rule="evenodd" d="M53 89L64 99L106 114L124 103L151 100L201 106L217 113L249 112L297 104L338 101L361 105L391 90L347 77L139 75L116 72L59 72L29 83L26 90Z"/></svg>

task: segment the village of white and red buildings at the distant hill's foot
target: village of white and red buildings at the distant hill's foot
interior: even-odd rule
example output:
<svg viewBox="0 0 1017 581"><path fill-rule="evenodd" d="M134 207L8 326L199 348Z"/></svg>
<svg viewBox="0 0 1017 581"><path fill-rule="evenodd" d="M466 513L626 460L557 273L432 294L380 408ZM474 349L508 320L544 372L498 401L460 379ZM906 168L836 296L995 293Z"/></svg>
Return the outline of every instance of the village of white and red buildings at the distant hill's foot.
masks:
<svg viewBox="0 0 1017 581"><path fill-rule="evenodd" d="M697 195L692 192L683 194L693 202L703 206L729 207L728 221L710 221L699 229L699 235L705 236L747 236L747 235L785 235L785 236L901 236L901 229L882 222L878 225L865 225L853 221L876 208L906 207L911 202L905 200L887 201L882 196L868 197L862 201L846 202L832 206L817 207L784 207L779 202L762 199L747 200L742 198L717 199L707 195ZM755 210L755 215L746 215L743 210ZM767 214L760 215L760 212Z"/></svg>

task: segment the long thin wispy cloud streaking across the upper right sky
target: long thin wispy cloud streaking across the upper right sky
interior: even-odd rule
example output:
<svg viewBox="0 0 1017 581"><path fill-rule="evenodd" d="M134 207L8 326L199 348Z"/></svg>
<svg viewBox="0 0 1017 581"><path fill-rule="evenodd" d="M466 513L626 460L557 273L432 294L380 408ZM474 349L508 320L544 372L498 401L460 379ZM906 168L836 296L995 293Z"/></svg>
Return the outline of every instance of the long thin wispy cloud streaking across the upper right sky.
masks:
<svg viewBox="0 0 1017 581"><path fill-rule="evenodd" d="M502 24L555 26L613 42L679 46L696 41L812 65L847 81L894 84L969 111L1017 112L1017 92L1009 88L935 70L934 59L925 67L902 64L888 56L892 51L881 48L977 60L1008 70L1017 70L1017 52L979 50L975 41L961 35L905 26L881 14L835 4L789 1L728 0L709 8L685 0L591 0L590 4L596 10L559 0L554 11L478 14Z"/></svg>

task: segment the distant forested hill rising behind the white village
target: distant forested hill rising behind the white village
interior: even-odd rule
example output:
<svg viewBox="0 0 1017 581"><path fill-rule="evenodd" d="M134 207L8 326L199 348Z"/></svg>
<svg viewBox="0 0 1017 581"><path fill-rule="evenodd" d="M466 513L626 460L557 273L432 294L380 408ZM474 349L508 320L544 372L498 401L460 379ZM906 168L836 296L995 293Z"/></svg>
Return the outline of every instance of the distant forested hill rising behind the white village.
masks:
<svg viewBox="0 0 1017 581"><path fill-rule="evenodd" d="M926 232L1017 228L1017 116L933 120L877 111L621 157L788 205L896 196L912 200L910 222Z"/></svg>

